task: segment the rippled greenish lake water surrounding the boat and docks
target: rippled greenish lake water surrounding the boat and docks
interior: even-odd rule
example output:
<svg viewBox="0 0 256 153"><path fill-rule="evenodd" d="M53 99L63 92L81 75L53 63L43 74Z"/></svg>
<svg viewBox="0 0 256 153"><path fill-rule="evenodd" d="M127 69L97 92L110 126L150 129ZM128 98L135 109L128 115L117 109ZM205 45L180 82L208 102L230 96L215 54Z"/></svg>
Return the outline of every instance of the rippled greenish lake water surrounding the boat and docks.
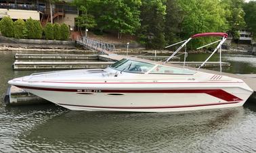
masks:
<svg viewBox="0 0 256 153"><path fill-rule="evenodd" d="M224 55L223 61L232 64L223 71L256 73L255 56ZM7 80L36 72L13 71L13 62L14 53L0 52L1 101ZM100 113L0 102L0 152L256 152L256 100L186 113Z"/></svg>

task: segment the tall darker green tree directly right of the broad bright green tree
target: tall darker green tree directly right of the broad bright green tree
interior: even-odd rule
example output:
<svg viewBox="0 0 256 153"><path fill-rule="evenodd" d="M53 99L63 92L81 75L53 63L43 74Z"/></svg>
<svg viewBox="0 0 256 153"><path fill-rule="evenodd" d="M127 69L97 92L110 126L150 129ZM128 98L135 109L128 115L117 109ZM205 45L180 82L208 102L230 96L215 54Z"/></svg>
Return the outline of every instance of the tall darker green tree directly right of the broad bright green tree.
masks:
<svg viewBox="0 0 256 153"><path fill-rule="evenodd" d="M165 0L143 0L140 18L142 20L139 38L147 48L163 49L165 47Z"/></svg>

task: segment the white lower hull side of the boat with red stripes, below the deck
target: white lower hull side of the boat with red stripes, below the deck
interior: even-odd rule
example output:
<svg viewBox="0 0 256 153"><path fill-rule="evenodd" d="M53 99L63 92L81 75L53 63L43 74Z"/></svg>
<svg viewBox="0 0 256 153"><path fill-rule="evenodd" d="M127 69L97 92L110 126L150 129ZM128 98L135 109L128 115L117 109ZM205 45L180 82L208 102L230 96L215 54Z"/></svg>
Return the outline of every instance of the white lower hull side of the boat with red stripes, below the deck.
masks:
<svg viewBox="0 0 256 153"><path fill-rule="evenodd" d="M174 112L223 109L242 106L251 95L251 91L243 88L76 90L19 87L75 111Z"/></svg>

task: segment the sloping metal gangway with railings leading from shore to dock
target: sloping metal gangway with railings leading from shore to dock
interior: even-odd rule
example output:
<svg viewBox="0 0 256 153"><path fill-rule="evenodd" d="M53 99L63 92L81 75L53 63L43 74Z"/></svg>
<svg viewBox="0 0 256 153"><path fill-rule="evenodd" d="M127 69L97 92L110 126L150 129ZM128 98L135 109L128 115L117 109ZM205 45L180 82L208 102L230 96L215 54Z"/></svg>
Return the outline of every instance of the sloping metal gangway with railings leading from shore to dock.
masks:
<svg viewBox="0 0 256 153"><path fill-rule="evenodd" d="M114 47L114 44L102 42L99 40L94 40L86 36L77 36L77 43L81 44L83 47L86 47L88 49L92 49L95 51L99 51L100 53L106 54L106 55L114 54L116 50Z"/></svg>

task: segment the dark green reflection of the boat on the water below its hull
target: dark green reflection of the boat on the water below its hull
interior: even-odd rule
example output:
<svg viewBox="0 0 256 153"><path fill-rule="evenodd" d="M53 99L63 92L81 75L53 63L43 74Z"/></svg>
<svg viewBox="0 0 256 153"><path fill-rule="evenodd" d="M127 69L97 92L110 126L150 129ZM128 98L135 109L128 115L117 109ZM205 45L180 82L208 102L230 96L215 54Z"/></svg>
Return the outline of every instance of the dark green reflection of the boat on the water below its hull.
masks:
<svg viewBox="0 0 256 153"><path fill-rule="evenodd" d="M19 138L25 144L18 143L15 148L47 151L45 145L59 151L210 151L215 148L203 145L209 141L207 137L218 144L220 140L213 139L219 132L236 131L243 117L242 107L187 113L63 111L21 133Z"/></svg>

